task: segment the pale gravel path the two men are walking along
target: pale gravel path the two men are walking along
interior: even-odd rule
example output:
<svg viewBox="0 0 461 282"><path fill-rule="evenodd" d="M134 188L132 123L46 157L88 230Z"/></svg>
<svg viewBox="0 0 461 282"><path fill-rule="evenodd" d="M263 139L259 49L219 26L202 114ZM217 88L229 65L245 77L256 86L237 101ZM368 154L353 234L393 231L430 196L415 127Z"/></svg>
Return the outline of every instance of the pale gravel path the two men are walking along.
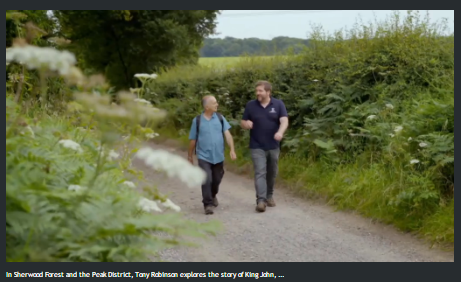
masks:
<svg viewBox="0 0 461 282"><path fill-rule="evenodd" d="M187 153L172 147L149 144L154 149ZM196 162L195 162L196 163ZM139 161L149 182L170 195L189 219L217 219L224 230L200 243L198 248L170 249L162 253L168 261L191 262L410 262L454 261L453 252L430 250L413 237L392 227L373 224L356 215L334 212L331 207L298 199L277 190L277 207L255 212L253 181L226 171L220 187L219 207L206 216L200 187L189 189L178 180L153 172Z"/></svg>

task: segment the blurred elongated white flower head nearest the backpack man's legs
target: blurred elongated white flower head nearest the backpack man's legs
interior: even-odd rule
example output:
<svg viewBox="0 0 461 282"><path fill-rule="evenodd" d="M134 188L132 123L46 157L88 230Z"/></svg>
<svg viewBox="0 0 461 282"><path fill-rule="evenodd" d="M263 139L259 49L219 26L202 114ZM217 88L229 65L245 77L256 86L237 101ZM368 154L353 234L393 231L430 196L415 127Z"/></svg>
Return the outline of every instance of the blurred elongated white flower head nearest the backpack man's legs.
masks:
<svg viewBox="0 0 461 282"><path fill-rule="evenodd" d="M168 177L179 178L188 187L202 185L206 180L206 173L199 167L193 166L184 158L167 151L142 148L136 157L155 170L167 173Z"/></svg>

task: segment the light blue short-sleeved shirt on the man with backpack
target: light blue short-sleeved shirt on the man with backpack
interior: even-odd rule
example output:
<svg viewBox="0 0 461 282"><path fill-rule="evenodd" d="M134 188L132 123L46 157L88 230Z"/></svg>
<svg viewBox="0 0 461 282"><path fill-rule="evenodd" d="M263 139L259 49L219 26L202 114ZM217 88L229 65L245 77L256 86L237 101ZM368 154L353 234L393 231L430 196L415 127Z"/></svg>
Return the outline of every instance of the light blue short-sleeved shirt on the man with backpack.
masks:
<svg viewBox="0 0 461 282"><path fill-rule="evenodd" d="M200 116L199 138L197 143L197 158L218 164L224 161L224 136L223 133L231 128L226 118L223 116L222 128L221 121L216 113L210 120L207 120L203 114ZM189 140L195 140L197 137L196 117L192 120Z"/></svg>

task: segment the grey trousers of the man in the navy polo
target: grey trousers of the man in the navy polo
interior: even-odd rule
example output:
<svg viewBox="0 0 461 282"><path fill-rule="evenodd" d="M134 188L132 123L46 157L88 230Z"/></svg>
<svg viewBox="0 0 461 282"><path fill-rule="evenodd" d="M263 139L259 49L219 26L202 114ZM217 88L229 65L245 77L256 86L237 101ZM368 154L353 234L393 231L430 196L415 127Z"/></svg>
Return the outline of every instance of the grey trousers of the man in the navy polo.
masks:
<svg viewBox="0 0 461 282"><path fill-rule="evenodd" d="M255 171L256 203L267 201L274 195L280 149L269 151L251 149L250 151Z"/></svg>

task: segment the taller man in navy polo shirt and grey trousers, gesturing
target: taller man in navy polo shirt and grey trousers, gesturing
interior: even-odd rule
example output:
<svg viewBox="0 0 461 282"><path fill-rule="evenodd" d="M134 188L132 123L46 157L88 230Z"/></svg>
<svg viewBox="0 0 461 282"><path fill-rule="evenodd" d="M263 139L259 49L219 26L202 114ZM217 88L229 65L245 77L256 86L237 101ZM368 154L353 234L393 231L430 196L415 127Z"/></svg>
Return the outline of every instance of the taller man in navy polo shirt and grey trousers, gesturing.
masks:
<svg viewBox="0 0 461 282"><path fill-rule="evenodd" d="M275 207L274 184L278 173L280 141L288 128L285 104L271 97L272 85L256 83L256 100L245 107L241 126L250 130L250 151L255 170L256 211Z"/></svg>

